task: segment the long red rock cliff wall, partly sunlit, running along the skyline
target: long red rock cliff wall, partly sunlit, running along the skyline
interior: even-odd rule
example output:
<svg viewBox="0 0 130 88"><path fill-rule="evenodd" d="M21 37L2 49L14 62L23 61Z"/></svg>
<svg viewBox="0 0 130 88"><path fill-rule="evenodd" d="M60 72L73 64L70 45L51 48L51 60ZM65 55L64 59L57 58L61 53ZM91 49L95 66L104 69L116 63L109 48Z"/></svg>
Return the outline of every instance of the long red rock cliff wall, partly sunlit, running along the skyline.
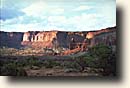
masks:
<svg viewBox="0 0 130 88"><path fill-rule="evenodd" d="M30 46L34 48L52 48L57 42L58 46L69 48L70 43L82 43L85 39L91 39L91 45L103 40L100 34L112 32L116 27L106 28L98 31L63 32L63 31L29 31L29 32L0 32L0 47L7 46L20 48ZM110 34L110 33L109 33ZM114 34L112 34L114 35ZM100 39L98 39L98 37ZM116 36L116 35L115 35ZM106 38L107 40L107 38ZM103 41L104 42L104 41Z"/></svg>

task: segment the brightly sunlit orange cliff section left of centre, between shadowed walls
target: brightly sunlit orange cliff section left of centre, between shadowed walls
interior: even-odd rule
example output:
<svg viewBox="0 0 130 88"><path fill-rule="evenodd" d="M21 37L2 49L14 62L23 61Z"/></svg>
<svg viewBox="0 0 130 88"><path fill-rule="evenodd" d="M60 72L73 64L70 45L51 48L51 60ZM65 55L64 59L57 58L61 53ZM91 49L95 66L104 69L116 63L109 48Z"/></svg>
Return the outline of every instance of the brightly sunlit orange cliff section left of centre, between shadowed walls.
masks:
<svg viewBox="0 0 130 88"><path fill-rule="evenodd" d="M36 35L26 32L21 44L33 47L52 47L52 41L56 38L56 34L56 31L39 32Z"/></svg>

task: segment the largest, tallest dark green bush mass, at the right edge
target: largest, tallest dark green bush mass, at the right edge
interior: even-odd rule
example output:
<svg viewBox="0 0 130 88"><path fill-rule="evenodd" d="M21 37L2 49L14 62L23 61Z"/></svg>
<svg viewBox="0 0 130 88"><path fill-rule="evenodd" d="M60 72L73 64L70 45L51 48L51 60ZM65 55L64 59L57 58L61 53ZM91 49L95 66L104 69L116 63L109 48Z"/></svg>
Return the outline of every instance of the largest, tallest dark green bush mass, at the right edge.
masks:
<svg viewBox="0 0 130 88"><path fill-rule="evenodd" d="M115 74L116 55L112 52L112 48L107 45L99 44L89 48L88 53L76 57L76 62L82 67L81 71L88 66L102 68L105 75Z"/></svg>

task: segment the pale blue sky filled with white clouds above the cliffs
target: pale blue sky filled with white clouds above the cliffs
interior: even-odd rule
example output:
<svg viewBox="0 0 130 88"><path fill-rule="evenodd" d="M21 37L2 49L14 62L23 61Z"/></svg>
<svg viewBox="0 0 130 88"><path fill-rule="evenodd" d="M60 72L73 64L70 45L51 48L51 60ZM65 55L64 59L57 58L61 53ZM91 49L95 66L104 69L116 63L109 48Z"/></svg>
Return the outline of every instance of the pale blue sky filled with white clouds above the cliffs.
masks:
<svg viewBox="0 0 130 88"><path fill-rule="evenodd" d="M1 0L1 31L89 31L116 25L116 0Z"/></svg>

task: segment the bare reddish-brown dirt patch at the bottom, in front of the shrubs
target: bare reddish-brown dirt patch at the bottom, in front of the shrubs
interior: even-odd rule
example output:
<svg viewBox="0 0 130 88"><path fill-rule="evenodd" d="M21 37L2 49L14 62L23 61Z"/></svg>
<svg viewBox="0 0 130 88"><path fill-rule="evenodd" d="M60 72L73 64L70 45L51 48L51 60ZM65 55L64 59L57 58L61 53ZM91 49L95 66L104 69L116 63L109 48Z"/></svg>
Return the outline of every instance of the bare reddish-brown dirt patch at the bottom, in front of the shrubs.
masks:
<svg viewBox="0 0 130 88"><path fill-rule="evenodd" d="M97 73L65 72L62 68L40 68L37 70L27 69L28 76L99 76Z"/></svg>

